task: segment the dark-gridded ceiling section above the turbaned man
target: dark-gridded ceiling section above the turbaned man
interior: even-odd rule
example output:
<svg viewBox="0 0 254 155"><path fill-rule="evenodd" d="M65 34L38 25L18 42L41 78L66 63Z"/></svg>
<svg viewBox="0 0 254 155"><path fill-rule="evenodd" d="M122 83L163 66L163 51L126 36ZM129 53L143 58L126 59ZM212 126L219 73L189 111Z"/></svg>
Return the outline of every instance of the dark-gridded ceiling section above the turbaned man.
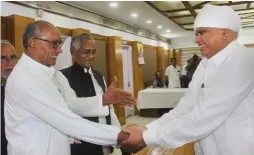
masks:
<svg viewBox="0 0 254 155"><path fill-rule="evenodd" d="M240 15L243 28L254 27L253 1L150 1L146 3L185 30L193 30L197 13L208 3L231 6Z"/></svg>

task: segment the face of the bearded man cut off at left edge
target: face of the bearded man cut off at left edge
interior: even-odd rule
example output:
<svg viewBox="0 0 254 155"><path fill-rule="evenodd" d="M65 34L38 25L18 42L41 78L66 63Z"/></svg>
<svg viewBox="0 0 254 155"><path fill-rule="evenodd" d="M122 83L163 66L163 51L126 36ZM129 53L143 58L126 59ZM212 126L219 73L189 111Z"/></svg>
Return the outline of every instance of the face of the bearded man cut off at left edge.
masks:
<svg viewBox="0 0 254 155"><path fill-rule="evenodd" d="M10 44L1 44L1 77L7 78L17 63L15 49Z"/></svg>

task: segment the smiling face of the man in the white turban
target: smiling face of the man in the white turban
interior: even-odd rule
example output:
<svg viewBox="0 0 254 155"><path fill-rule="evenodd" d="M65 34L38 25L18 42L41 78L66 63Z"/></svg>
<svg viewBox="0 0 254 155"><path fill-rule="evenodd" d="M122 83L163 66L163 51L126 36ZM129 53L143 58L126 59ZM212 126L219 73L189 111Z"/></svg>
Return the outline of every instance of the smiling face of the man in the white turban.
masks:
<svg viewBox="0 0 254 155"><path fill-rule="evenodd" d="M197 28L195 42L198 44L201 54L211 58L225 46L225 29Z"/></svg>

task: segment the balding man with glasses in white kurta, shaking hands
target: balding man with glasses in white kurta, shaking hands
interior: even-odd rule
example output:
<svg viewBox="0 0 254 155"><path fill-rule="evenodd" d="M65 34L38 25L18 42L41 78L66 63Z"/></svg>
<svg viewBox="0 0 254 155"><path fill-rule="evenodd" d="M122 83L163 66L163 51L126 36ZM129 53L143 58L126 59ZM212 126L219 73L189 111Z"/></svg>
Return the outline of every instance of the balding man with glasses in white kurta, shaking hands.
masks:
<svg viewBox="0 0 254 155"><path fill-rule="evenodd" d="M51 67L61 43L59 30L46 21L25 29L25 52L6 85L8 155L70 155L70 138L115 145L128 137L118 127L90 122L69 110L65 91L70 90L62 89L68 81Z"/></svg>

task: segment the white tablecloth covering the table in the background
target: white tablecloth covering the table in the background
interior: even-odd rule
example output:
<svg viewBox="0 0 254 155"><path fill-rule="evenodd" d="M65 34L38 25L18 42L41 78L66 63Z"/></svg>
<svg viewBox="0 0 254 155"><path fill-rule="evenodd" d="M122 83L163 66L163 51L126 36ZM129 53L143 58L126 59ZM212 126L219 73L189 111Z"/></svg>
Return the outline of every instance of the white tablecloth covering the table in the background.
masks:
<svg viewBox="0 0 254 155"><path fill-rule="evenodd" d="M138 108L174 108L186 91L186 88L148 88L141 90L138 92Z"/></svg>

